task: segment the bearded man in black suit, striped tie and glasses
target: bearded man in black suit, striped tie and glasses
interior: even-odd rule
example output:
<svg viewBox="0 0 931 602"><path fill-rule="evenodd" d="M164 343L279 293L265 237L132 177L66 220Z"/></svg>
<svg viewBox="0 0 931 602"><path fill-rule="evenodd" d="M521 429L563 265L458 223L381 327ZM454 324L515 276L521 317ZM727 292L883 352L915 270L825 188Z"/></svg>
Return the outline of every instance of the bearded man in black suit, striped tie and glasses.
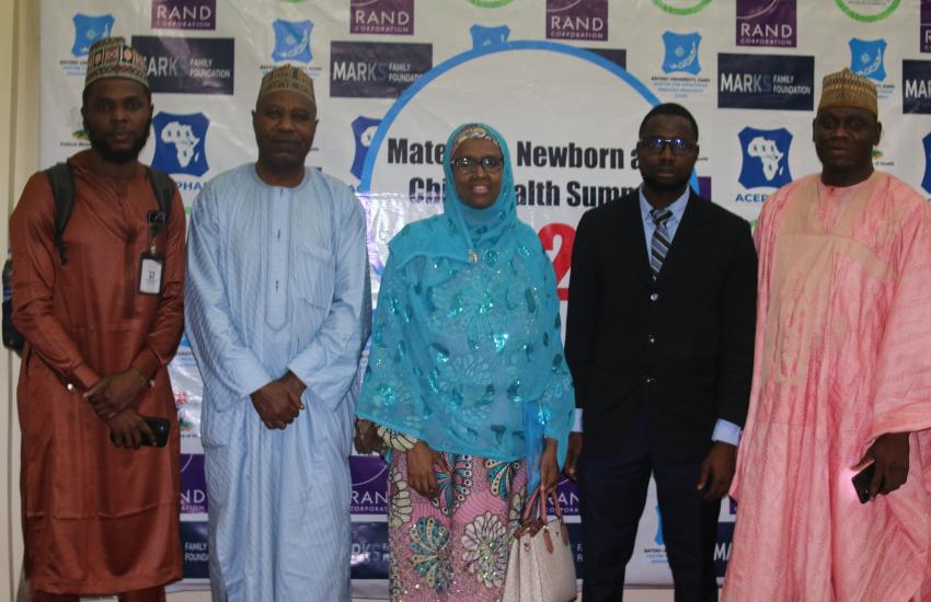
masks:
<svg viewBox="0 0 931 602"><path fill-rule="evenodd" d="M622 599L656 479L676 602L717 600L714 544L754 361L757 255L747 222L698 196L682 106L640 126L637 192L582 217L566 359L585 431L566 468L582 503L583 600Z"/></svg>

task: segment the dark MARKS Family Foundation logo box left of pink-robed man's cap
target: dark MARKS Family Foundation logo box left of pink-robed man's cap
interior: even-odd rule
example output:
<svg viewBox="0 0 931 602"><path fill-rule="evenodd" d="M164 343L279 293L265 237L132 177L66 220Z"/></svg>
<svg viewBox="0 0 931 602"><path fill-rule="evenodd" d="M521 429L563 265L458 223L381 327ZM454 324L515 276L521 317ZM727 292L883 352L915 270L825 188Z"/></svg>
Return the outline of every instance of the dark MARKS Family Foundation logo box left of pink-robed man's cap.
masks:
<svg viewBox="0 0 931 602"><path fill-rule="evenodd" d="M812 111L815 57L717 55L719 108Z"/></svg>

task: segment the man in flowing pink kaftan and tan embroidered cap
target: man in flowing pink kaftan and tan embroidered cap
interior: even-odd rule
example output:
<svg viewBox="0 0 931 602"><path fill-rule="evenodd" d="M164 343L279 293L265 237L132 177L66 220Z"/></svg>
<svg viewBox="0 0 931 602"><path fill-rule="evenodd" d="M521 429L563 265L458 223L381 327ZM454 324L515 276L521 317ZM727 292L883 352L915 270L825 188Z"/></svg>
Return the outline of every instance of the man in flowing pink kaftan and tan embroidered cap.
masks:
<svg viewBox="0 0 931 602"><path fill-rule="evenodd" d="M876 92L825 78L820 174L766 202L724 602L931 601L931 215L875 172ZM875 462L871 500L851 477Z"/></svg>

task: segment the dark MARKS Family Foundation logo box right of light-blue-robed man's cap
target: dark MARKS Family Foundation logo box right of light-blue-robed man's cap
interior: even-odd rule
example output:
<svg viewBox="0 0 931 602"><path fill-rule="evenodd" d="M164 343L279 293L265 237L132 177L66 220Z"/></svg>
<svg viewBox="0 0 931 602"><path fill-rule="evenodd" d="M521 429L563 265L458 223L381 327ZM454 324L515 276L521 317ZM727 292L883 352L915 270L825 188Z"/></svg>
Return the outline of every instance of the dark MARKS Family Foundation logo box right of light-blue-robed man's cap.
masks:
<svg viewBox="0 0 931 602"><path fill-rule="evenodd" d="M330 95L394 99L432 68L430 44L333 42Z"/></svg>

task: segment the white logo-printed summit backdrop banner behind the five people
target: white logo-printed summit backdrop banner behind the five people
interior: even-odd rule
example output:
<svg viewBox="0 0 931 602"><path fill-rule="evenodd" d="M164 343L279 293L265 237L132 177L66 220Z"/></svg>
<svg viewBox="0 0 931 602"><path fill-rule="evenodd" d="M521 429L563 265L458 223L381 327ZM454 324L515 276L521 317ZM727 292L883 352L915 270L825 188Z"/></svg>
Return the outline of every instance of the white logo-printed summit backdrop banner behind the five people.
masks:
<svg viewBox="0 0 931 602"><path fill-rule="evenodd" d="M80 105L90 45L122 35L149 59L156 113L141 159L189 208L215 175L255 160L262 76L301 66L320 125L308 163L367 211L372 294L388 241L440 210L442 147L492 124L515 161L519 216L568 298L575 224L640 182L637 127L659 102L701 129L692 185L754 222L772 192L818 170L821 78L843 67L880 93L878 169L931 196L931 0L42 0L42 163L88 147ZM830 32L830 35L825 35ZM207 584L202 384L186 339L171 364L183 431L182 588ZM386 597L387 470L353 456L353 592ZM578 496L560 496L582 563ZM722 505L723 575L735 507ZM651 486L631 583L671 582Z"/></svg>

